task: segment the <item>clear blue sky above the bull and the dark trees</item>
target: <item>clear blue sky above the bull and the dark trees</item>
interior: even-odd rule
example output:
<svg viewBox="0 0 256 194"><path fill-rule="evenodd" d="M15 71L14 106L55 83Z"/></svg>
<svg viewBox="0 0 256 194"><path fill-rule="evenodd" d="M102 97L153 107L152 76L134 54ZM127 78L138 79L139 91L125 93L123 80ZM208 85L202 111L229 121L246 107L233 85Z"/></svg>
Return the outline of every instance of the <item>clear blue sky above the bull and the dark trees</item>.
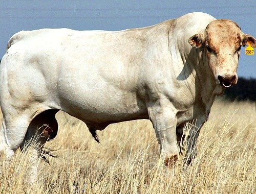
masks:
<svg viewBox="0 0 256 194"><path fill-rule="evenodd" d="M197 11L236 21L244 33L256 37L256 1L2 0L0 57L5 53L9 38L20 30L71 28L116 31L150 26ZM244 49L238 75L256 78L256 54L246 56Z"/></svg>

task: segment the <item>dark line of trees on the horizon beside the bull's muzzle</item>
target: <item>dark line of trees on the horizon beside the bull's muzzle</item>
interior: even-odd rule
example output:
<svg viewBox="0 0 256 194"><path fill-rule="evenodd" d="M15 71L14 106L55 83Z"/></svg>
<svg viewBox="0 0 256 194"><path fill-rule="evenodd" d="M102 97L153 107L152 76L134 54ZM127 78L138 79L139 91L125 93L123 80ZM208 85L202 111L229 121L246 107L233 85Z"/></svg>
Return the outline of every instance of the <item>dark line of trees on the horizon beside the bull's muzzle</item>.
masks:
<svg viewBox="0 0 256 194"><path fill-rule="evenodd" d="M238 78L237 85L225 89L223 96L230 101L256 101L256 79Z"/></svg>

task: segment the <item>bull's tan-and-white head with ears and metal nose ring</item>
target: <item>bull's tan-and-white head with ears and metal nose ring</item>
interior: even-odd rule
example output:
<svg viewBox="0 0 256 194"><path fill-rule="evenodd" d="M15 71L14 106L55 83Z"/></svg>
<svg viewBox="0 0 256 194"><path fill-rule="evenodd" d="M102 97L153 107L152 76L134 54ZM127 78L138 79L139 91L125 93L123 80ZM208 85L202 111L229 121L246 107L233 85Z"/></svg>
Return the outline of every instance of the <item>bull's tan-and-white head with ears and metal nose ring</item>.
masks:
<svg viewBox="0 0 256 194"><path fill-rule="evenodd" d="M237 84L241 46L248 41L252 47L256 46L253 36L242 33L235 22L226 19L211 21L204 32L195 34L188 40L195 48L204 46L215 83L223 87Z"/></svg>

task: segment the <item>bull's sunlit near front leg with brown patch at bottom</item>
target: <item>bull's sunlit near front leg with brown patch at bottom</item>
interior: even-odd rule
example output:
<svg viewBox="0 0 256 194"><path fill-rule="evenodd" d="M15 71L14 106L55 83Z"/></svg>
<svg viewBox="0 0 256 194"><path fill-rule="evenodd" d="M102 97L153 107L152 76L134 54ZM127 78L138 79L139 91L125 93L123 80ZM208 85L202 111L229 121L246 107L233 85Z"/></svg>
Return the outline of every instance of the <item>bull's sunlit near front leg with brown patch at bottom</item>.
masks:
<svg viewBox="0 0 256 194"><path fill-rule="evenodd" d="M147 103L147 110L155 129L165 165L172 166L179 156L176 138L176 109L167 99L161 99Z"/></svg>

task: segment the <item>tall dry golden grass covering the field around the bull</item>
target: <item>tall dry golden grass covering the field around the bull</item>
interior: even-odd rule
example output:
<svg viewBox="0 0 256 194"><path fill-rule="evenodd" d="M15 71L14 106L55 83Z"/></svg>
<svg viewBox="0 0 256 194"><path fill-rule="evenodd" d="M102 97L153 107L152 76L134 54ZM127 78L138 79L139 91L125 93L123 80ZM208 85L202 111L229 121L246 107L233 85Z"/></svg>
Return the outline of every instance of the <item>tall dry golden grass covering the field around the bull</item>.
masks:
<svg viewBox="0 0 256 194"><path fill-rule="evenodd" d="M58 158L41 162L38 182L26 186L28 154L17 152L4 166L0 193L256 193L255 103L216 102L197 158L183 168L181 155L173 169L159 160L148 120L111 125L98 132L98 144L82 122L57 118L47 147Z"/></svg>

